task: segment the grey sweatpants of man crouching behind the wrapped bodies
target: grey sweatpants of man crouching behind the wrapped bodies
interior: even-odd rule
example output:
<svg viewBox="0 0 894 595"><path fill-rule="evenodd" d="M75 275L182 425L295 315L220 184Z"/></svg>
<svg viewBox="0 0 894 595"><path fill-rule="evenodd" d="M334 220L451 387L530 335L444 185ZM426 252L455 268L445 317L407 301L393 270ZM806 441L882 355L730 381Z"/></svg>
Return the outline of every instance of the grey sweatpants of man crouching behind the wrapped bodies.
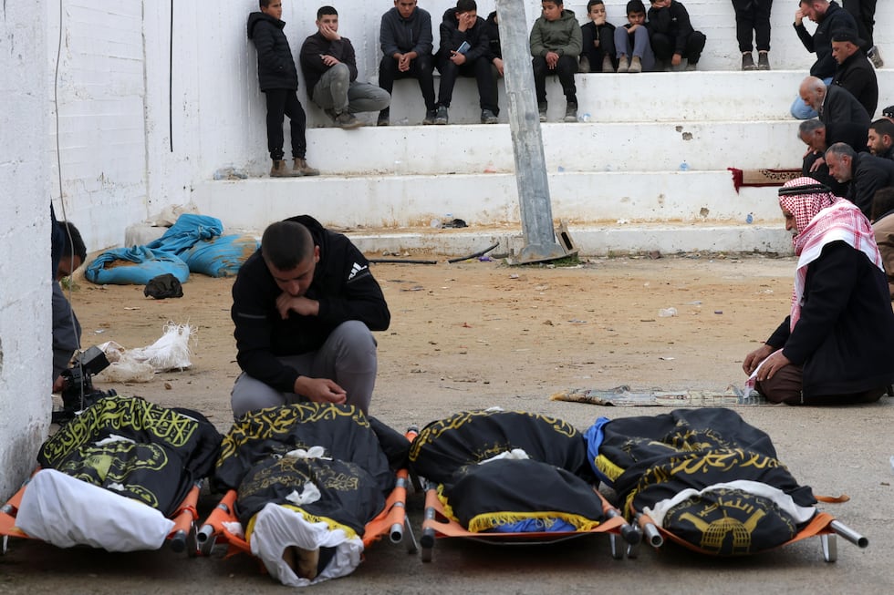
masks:
<svg viewBox="0 0 894 595"><path fill-rule="evenodd" d="M303 376L334 381L348 393L348 405L355 405L364 413L369 410L379 360L376 339L366 324L356 320L341 323L317 351L277 359ZM300 402L307 402L307 398L280 392L244 372L236 378L230 393L230 405L237 421L254 409Z"/></svg>

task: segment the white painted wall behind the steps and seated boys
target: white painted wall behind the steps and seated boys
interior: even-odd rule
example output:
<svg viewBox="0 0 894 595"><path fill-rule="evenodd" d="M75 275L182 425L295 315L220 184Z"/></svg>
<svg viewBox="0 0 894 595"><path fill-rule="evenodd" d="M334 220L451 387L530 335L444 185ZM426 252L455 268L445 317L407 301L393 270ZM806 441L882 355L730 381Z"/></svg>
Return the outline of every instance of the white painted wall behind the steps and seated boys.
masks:
<svg viewBox="0 0 894 595"><path fill-rule="evenodd" d="M341 0L333 4L340 13L340 31L357 50L359 76L376 81L380 15L392 3ZM453 4L452 0L421 2L431 12L436 43L443 11ZM695 26L708 36L702 67L735 69L739 57L729 0L687 0L685 4ZM876 41L891 61L894 3L878 4ZM528 23L533 23L540 3L519 0L519 5ZM622 24L626 0L607 0L606 5L609 21ZM577 0L567 4L581 22L586 19L585 6L586 2ZM294 52L315 31L317 7L286 0L283 19ZM211 180L217 169L233 166L255 175L267 169L264 99L257 89L255 49L245 36L246 16L256 9L255 0L213 5L54 0L45 5L45 75L52 113L54 88L58 97L62 200L70 219L83 229L88 249L120 245L127 226L156 215L166 205L187 202L192 190ZM493 9L491 0L479 3L481 15ZM803 71L812 61L792 30L794 12L792 5L777 2L774 6L774 69ZM60 26L64 43L56 87ZM419 100L412 85L414 81L399 82L396 103ZM459 97L473 89L461 87ZM309 105L303 89L299 97L308 112L308 126L326 126L326 118ZM648 110L660 100L643 94L639 102ZM454 104L458 101L462 98L454 94ZM884 98L881 103L887 105ZM408 108L396 105L392 116L400 119L401 110ZM308 131L309 138L313 133ZM49 140L46 169L55 179L52 128Z"/></svg>

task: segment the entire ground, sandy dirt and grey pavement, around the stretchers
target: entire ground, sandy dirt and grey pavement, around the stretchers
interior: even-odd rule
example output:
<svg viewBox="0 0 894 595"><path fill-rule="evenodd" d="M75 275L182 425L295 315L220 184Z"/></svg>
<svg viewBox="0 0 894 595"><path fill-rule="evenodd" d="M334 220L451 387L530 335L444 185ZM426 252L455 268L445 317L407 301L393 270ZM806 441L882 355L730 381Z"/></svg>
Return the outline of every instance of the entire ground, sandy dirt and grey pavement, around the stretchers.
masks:
<svg viewBox="0 0 894 595"><path fill-rule="evenodd" d="M370 255L371 256L371 255ZM414 254L413 258L425 258ZM432 257L437 258L437 257ZM379 380L370 413L403 430L457 411L501 405L566 419L585 429L599 415L658 415L660 407L605 407L549 400L571 388L716 389L741 385L743 356L788 312L795 262L761 256L590 259L577 267L508 267L500 262L373 264L391 310L377 333ZM226 431L238 374L231 279L195 275L181 299L154 301L142 287L78 281L72 301L84 346L153 343L168 321L195 327L192 368L149 383L99 388L192 407ZM660 311L674 308L675 316ZM894 590L891 405L738 407L764 429L779 457L816 494L847 493L827 505L868 536L858 549L838 539L836 564L818 539L747 559L645 548L613 560L604 536L535 548L439 540L434 561L387 542L374 544L351 576L313 587L344 593L867 593ZM205 516L215 503L200 501ZM421 494L408 500L419 535ZM826 507L827 509L827 507ZM733 585L735 585L733 587ZM109 554L16 541L0 556L0 592L282 593L247 557L187 559L169 549Z"/></svg>

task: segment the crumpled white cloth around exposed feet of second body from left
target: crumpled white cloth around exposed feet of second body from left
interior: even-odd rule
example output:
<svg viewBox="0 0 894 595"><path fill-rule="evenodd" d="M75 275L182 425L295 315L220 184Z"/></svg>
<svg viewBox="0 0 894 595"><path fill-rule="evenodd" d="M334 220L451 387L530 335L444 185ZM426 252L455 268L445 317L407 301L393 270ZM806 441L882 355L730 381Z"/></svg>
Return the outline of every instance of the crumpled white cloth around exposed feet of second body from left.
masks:
<svg viewBox="0 0 894 595"><path fill-rule="evenodd" d="M264 562L270 576L289 587L306 587L347 576L359 566L360 554L363 553L362 539L348 539L341 529L331 530L325 522L308 522L295 510L272 502L267 503L255 516L250 543L252 553ZM336 553L314 580L307 580L297 576L283 559L286 548L292 546L301 549L336 548Z"/></svg>

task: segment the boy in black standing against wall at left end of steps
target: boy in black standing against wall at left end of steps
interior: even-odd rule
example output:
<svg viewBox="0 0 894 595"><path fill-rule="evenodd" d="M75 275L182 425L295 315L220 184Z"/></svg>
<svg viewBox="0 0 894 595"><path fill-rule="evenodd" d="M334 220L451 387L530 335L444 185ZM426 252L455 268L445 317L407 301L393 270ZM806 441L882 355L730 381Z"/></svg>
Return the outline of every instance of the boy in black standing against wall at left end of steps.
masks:
<svg viewBox="0 0 894 595"><path fill-rule="evenodd" d="M307 117L298 101L298 71L288 39L283 32L283 3L281 0L258 0L259 13L248 15L248 38L257 49L257 80L267 98L267 149L274 178L317 176L319 169L307 165ZM283 119L288 116L292 138L292 168L283 159Z"/></svg>

